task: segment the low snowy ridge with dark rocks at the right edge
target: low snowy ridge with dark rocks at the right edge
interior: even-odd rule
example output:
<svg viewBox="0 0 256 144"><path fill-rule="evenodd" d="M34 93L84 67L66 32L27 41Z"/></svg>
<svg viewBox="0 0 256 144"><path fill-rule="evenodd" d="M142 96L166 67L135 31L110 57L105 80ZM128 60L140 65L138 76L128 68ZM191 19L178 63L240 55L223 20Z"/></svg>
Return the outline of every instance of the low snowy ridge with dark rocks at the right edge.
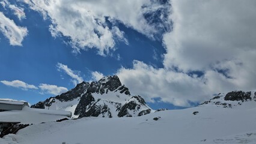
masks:
<svg viewBox="0 0 256 144"><path fill-rule="evenodd" d="M209 101L204 101L200 106L215 105L225 108L234 108L236 106L255 107L256 106L256 92L255 91L231 91L227 94L219 93Z"/></svg>

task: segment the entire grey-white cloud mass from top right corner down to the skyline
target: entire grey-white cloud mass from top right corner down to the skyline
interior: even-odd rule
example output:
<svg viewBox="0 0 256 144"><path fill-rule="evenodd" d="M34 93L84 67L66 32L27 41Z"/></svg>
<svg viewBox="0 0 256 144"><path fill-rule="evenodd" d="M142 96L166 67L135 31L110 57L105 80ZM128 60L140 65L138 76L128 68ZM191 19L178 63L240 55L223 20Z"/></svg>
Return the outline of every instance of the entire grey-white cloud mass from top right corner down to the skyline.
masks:
<svg viewBox="0 0 256 144"><path fill-rule="evenodd" d="M134 61L120 80L153 101L190 106L218 92L256 88L255 1L171 1L163 68Z"/></svg>

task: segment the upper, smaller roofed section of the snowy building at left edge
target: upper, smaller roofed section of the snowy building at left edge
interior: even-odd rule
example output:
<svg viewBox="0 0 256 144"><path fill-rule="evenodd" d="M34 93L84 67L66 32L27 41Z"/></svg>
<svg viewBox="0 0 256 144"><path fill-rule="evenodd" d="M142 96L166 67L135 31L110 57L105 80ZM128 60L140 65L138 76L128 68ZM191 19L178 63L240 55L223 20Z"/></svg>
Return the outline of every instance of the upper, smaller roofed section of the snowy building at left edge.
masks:
<svg viewBox="0 0 256 144"><path fill-rule="evenodd" d="M6 110L22 110L25 106L28 106L28 103L25 101L0 100L0 112Z"/></svg>

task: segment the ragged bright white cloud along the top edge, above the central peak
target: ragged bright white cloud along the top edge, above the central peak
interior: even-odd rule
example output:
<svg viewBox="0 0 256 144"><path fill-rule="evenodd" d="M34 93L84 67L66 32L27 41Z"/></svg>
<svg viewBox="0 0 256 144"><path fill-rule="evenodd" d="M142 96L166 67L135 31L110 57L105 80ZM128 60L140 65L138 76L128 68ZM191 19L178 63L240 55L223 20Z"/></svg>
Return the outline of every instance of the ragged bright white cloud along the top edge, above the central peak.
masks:
<svg viewBox="0 0 256 144"><path fill-rule="evenodd" d="M63 35L70 38L74 52L97 49L99 55L106 56L115 50L116 41L129 42L115 23L123 23L150 38L158 33L158 28L168 28L168 24L152 23L159 17L160 23L168 23L165 13L168 5L160 1L148 0L23 0L32 10L39 11L44 18L52 20L50 32L53 37Z"/></svg>

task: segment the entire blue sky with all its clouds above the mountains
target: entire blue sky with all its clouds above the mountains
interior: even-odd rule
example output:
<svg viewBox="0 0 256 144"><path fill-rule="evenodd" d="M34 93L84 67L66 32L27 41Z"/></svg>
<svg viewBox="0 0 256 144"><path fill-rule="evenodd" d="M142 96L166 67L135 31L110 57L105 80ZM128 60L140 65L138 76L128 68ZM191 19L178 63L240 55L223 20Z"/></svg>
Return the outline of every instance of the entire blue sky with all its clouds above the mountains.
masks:
<svg viewBox="0 0 256 144"><path fill-rule="evenodd" d="M0 0L0 98L116 74L153 107L256 89L256 2Z"/></svg>

